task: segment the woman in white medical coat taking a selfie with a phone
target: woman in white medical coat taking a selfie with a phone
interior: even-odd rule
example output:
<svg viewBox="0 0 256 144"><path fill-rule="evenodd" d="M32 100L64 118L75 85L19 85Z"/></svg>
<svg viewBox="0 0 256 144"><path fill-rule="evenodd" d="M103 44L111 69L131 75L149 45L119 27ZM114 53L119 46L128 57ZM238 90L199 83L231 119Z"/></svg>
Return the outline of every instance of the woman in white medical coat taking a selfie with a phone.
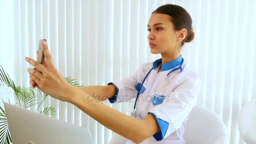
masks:
<svg viewBox="0 0 256 144"><path fill-rule="evenodd" d="M169 4L157 8L147 26L151 53L161 53L162 58L142 64L130 77L107 86L73 87L54 67L48 46L43 41L45 66L26 58L37 69L28 69L32 86L53 98L74 104L127 138L127 144L184 144L187 117L200 90L198 75L187 68L180 54L184 43L194 38L192 20L184 8ZM95 93L93 96L99 97L91 96L92 92ZM136 98L136 111L132 117L99 102L109 99L116 103L133 98Z"/></svg>

